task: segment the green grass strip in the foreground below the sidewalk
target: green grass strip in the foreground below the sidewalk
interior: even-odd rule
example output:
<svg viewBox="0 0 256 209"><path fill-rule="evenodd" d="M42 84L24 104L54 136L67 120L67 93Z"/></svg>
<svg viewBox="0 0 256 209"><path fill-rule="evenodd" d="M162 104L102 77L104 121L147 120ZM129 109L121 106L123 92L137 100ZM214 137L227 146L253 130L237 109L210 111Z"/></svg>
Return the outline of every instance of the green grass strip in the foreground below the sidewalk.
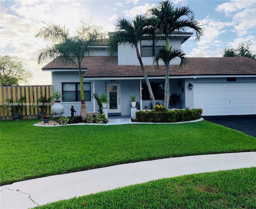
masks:
<svg viewBox="0 0 256 209"><path fill-rule="evenodd" d="M256 168L184 175L118 188L36 209L256 208Z"/></svg>

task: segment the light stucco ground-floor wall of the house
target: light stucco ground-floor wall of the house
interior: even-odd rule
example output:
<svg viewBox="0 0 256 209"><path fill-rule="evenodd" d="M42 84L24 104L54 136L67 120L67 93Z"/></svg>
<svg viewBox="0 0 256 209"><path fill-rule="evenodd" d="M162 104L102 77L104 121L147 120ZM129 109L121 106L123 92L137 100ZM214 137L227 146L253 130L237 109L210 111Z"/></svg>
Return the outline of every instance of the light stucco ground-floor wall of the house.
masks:
<svg viewBox="0 0 256 209"><path fill-rule="evenodd" d="M196 77L195 77L196 78ZM223 78L170 78L170 94L178 93L181 95L181 103L177 105L178 109L184 109L186 107L194 108L194 89L190 90L188 84L191 83L193 87L198 83L218 83L227 82L226 77ZM52 72L52 86L53 91L62 91L63 82L79 82L78 72ZM140 101L140 80L84 80L84 82L90 82L91 84L91 101L86 101L87 111L97 111L98 105L93 99L93 89L98 95L107 93L106 84L120 84L120 112L122 115L130 115L130 102L129 95L136 94L137 101ZM256 78L236 78L236 82L256 82ZM183 87L183 92L182 92ZM163 104L162 100L156 100L160 104ZM64 105L64 115L70 116L71 105L76 109L76 115L80 114L80 102L62 102ZM142 101L142 109L145 105L150 109L150 100ZM169 106L171 108L171 106Z"/></svg>

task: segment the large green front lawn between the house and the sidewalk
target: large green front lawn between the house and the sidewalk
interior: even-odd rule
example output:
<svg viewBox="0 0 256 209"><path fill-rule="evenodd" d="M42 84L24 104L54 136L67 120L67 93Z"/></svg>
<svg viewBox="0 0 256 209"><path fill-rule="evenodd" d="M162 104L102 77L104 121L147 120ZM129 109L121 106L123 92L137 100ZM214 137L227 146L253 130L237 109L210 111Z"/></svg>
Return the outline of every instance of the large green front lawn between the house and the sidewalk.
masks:
<svg viewBox="0 0 256 209"><path fill-rule="evenodd" d="M256 151L256 138L208 121L36 127L1 121L1 185L121 163Z"/></svg>

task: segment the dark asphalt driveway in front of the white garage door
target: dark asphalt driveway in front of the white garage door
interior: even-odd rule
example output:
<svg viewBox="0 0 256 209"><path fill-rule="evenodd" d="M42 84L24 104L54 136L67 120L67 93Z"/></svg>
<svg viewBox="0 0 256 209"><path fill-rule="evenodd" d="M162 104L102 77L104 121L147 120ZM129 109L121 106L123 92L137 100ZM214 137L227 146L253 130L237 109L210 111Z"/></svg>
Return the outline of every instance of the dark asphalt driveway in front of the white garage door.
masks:
<svg viewBox="0 0 256 209"><path fill-rule="evenodd" d="M256 115L223 115L202 117L213 123L218 123L256 137Z"/></svg>

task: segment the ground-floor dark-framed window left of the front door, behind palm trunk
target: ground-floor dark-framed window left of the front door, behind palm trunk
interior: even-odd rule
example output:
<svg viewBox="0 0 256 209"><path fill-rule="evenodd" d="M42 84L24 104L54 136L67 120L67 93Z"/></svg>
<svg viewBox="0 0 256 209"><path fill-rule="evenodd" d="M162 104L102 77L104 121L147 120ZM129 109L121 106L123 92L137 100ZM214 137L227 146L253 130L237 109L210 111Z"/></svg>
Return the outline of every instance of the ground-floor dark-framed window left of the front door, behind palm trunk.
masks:
<svg viewBox="0 0 256 209"><path fill-rule="evenodd" d="M63 102L81 101L80 83L62 83ZM84 100L91 101L91 84L84 83Z"/></svg>

